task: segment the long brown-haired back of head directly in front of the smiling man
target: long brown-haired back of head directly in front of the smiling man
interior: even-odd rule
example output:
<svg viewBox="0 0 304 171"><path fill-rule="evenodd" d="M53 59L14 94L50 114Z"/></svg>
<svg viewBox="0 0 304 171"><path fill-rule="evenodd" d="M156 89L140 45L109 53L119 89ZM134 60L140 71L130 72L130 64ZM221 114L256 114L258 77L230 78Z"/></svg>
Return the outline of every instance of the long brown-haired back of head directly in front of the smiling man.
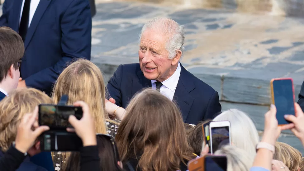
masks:
<svg viewBox="0 0 304 171"><path fill-rule="evenodd" d="M194 158L181 113L169 98L148 88L126 111L115 137L123 163L140 156L142 171L178 170L181 161Z"/></svg>

